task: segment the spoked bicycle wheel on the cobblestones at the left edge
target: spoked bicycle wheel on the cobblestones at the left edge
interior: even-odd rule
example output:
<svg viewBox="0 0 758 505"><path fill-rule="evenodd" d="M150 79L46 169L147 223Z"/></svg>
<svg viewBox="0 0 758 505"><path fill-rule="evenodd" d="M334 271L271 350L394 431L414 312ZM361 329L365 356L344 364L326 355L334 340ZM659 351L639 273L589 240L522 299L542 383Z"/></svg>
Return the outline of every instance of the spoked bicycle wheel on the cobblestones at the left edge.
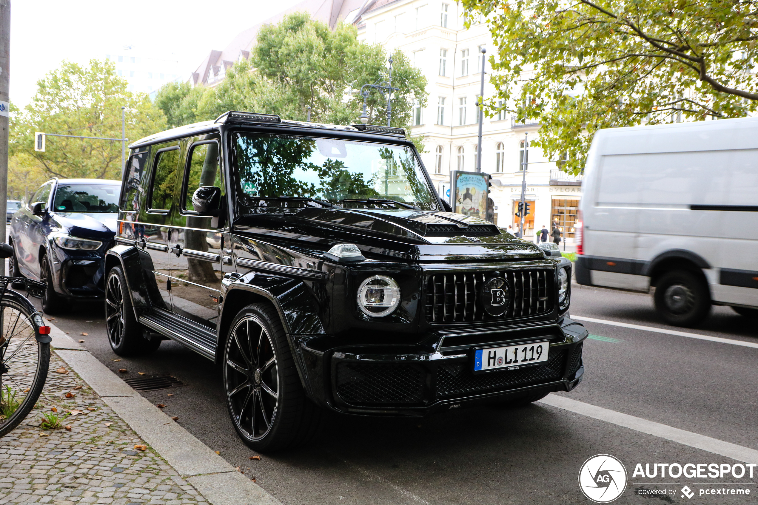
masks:
<svg viewBox="0 0 758 505"><path fill-rule="evenodd" d="M33 309L3 298L0 310L0 366L6 369L0 375L0 437L3 437L27 418L39 399L50 366L50 344L36 341L33 335L34 329L30 324Z"/></svg>

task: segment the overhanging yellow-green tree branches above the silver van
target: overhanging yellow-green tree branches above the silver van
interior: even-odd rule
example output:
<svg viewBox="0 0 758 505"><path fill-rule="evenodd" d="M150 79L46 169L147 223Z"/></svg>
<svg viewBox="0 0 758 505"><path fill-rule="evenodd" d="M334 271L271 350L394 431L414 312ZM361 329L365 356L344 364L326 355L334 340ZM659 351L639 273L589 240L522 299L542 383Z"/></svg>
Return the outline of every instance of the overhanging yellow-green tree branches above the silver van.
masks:
<svg viewBox="0 0 758 505"><path fill-rule="evenodd" d="M492 82L533 145L564 170L584 167L613 126L742 117L758 108L758 2L463 0L487 17ZM493 101L490 112L499 108Z"/></svg>

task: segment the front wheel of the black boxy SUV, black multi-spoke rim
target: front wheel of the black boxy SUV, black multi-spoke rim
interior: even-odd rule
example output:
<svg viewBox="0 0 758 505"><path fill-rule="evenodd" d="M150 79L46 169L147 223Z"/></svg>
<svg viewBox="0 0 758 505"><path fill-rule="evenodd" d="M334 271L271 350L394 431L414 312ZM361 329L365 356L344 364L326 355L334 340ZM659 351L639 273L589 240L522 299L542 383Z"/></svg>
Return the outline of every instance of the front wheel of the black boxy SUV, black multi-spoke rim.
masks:
<svg viewBox="0 0 758 505"><path fill-rule="evenodd" d="M271 452L304 444L315 435L322 412L305 397L274 307L252 304L240 310L223 356L229 416L248 447Z"/></svg>

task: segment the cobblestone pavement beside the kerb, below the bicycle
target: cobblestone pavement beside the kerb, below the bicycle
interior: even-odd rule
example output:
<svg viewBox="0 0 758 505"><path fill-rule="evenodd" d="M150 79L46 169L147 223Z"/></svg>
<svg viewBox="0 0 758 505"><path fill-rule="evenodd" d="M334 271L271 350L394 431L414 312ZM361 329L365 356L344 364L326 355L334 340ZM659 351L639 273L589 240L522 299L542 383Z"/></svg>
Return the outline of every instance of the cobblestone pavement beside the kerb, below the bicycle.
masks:
<svg viewBox="0 0 758 505"><path fill-rule="evenodd" d="M37 407L0 438L0 504L206 505L150 447L135 449L145 442L73 371L56 373L61 367L67 369L52 354ZM61 428L42 429L42 414L53 413L52 407Z"/></svg>

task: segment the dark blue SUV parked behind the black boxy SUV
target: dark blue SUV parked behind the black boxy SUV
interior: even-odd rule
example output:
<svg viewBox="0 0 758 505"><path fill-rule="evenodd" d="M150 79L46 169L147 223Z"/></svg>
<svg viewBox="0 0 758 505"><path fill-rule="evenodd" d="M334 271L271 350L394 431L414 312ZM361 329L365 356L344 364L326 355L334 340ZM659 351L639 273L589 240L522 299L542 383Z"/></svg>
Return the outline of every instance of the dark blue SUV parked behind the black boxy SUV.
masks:
<svg viewBox="0 0 758 505"><path fill-rule="evenodd" d="M50 179L13 215L11 275L47 283L46 313L64 310L71 298L102 298L120 192L120 181Z"/></svg>

